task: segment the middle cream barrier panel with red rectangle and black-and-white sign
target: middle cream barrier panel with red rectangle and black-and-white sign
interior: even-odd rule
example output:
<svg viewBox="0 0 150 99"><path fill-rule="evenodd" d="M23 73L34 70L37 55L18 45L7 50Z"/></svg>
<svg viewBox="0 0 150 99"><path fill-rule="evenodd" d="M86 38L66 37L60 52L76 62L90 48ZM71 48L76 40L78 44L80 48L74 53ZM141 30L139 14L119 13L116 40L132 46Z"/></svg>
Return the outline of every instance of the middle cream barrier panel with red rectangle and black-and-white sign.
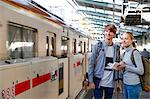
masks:
<svg viewBox="0 0 150 99"><path fill-rule="evenodd" d="M31 62L30 72L31 99L58 99L58 60L56 58L34 59Z"/></svg>

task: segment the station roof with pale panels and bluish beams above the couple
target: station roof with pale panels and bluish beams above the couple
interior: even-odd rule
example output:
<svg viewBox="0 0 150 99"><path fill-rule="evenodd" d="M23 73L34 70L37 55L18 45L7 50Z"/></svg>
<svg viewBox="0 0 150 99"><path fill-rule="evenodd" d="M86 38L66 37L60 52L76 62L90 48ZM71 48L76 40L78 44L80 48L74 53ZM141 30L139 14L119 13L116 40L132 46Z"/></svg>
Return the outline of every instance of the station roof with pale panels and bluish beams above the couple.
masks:
<svg viewBox="0 0 150 99"><path fill-rule="evenodd" d="M116 0L117 1L117 0ZM128 1L137 2L140 4L149 3L150 0L122 0L122 4ZM147 27L140 26L125 26L120 27L120 21L122 16L122 4L117 4L115 0L113 2L105 2L105 0L74 0L79 6L78 12L83 13L89 23L93 26L93 29L100 28L98 32L102 33L104 26L107 23L114 23L119 32L130 31L137 35L142 35L143 32L147 32ZM86 25L86 24L85 24Z"/></svg>

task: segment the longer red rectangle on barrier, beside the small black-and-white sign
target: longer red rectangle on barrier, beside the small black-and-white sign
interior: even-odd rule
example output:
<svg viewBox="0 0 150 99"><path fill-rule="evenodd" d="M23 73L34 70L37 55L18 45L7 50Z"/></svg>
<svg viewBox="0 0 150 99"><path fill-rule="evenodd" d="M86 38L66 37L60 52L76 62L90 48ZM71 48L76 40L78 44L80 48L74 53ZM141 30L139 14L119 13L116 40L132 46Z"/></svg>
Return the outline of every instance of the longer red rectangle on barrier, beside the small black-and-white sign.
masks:
<svg viewBox="0 0 150 99"><path fill-rule="evenodd" d="M39 76L37 78L32 79L32 87L36 87L46 81L50 80L50 73Z"/></svg>

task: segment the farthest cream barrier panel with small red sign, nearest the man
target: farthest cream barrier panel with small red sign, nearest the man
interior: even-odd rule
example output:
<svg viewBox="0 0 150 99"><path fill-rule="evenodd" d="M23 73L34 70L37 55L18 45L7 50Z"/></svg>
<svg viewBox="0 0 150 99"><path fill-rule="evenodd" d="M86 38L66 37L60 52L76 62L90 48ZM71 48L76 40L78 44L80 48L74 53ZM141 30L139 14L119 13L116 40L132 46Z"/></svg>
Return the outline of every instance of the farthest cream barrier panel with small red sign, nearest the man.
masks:
<svg viewBox="0 0 150 99"><path fill-rule="evenodd" d="M84 55L69 56L69 97L75 99L82 89Z"/></svg>

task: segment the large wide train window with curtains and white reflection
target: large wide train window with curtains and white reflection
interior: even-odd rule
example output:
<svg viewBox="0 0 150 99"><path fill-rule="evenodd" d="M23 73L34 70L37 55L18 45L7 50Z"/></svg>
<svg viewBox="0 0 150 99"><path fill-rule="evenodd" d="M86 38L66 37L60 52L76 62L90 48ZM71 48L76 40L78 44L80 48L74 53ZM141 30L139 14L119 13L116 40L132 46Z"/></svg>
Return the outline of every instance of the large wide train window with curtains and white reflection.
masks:
<svg viewBox="0 0 150 99"><path fill-rule="evenodd" d="M35 31L21 25L8 25L8 50L12 59L35 57Z"/></svg>

